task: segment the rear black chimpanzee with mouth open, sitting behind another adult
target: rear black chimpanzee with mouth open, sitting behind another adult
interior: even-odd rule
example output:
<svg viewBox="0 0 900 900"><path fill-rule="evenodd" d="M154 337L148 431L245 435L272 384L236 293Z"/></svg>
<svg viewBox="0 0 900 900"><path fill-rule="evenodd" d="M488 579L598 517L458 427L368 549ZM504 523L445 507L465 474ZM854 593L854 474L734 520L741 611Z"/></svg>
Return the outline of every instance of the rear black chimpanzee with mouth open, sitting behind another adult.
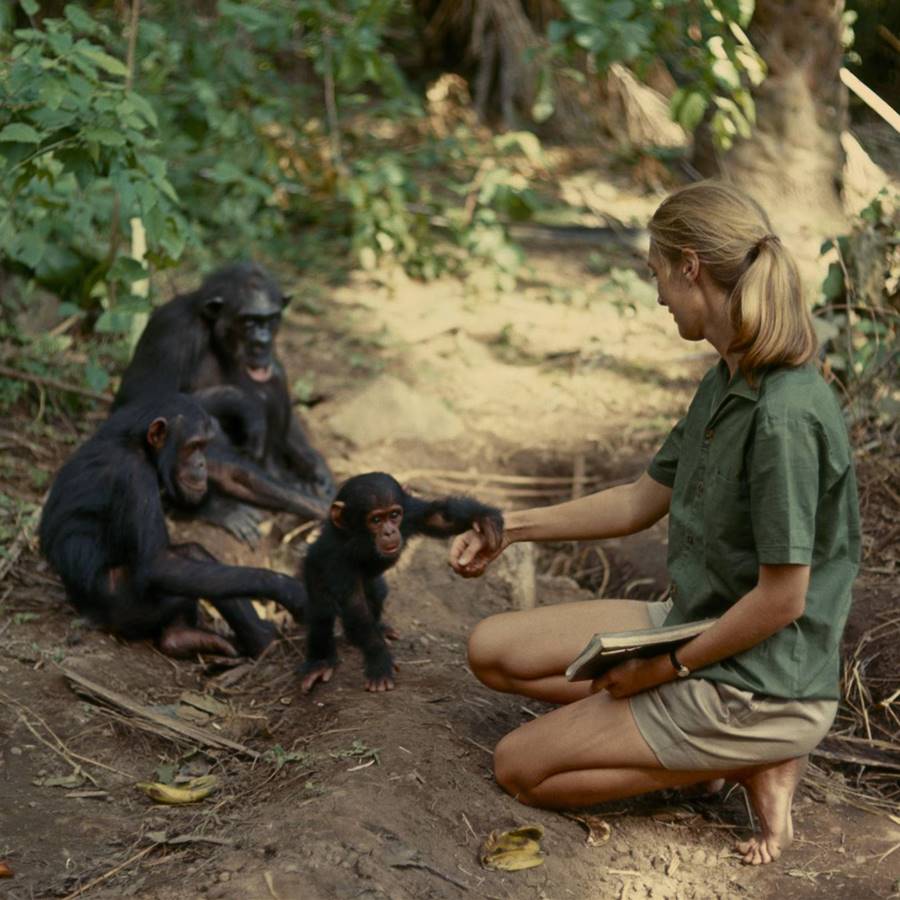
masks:
<svg viewBox="0 0 900 900"><path fill-rule="evenodd" d="M275 353L288 299L258 265L219 269L153 313L113 403L167 391L196 397L218 433L208 452L213 490L194 512L248 540L259 514L235 499L319 518L334 493L328 465L291 411Z"/></svg>

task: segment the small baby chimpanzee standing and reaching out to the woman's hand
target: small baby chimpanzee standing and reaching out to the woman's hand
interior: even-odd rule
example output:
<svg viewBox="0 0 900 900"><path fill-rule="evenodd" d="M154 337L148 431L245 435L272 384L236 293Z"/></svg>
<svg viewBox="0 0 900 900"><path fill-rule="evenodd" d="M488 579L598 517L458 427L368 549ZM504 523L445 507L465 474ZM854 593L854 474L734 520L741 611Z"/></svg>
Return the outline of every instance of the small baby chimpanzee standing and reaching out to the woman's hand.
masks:
<svg viewBox="0 0 900 900"><path fill-rule="evenodd" d="M366 690L392 690L394 661L385 638L397 635L381 622L388 593L382 573L397 562L413 535L448 537L469 528L481 531L496 549L503 516L471 497L422 500L384 472L345 482L304 566L309 630L301 690L307 693L334 674L338 615L347 639L362 650Z"/></svg>

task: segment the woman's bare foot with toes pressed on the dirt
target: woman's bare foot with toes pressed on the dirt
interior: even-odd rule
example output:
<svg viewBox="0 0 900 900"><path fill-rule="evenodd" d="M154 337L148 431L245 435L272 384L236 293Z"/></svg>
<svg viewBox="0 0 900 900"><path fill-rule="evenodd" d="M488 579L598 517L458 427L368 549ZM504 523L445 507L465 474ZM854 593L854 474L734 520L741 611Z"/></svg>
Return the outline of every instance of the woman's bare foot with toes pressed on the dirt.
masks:
<svg viewBox="0 0 900 900"><path fill-rule="evenodd" d="M791 804L808 757L760 766L741 778L750 805L759 819L760 831L749 841L737 844L737 852L750 866L770 863L781 856L794 839Z"/></svg>

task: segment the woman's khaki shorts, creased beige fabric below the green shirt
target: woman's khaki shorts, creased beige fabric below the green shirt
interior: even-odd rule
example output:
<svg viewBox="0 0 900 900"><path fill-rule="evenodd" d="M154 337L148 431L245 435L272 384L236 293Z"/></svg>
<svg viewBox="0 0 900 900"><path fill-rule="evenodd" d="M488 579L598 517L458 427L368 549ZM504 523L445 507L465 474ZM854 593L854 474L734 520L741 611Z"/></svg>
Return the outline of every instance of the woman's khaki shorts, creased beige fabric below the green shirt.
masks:
<svg viewBox="0 0 900 900"><path fill-rule="evenodd" d="M668 602L651 603L653 625ZM665 769L728 770L809 753L834 721L836 700L784 700L702 678L670 681L630 699L638 729Z"/></svg>

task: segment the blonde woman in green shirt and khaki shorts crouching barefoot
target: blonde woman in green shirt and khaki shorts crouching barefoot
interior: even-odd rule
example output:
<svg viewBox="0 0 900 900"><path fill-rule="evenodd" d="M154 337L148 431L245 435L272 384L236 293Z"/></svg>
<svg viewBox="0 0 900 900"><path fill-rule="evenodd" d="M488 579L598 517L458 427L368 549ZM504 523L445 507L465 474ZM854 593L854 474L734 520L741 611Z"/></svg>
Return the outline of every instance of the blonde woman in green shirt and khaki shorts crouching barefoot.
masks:
<svg viewBox="0 0 900 900"><path fill-rule="evenodd" d="M632 534L669 514L665 603L596 600L504 613L469 642L490 687L564 704L506 735L500 785L548 808L722 778L746 788L760 831L745 862L780 856L807 754L839 697L839 644L858 568L846 428L811 360L796 266L763 210L735 188L677 191L650 222L659 303L721 359L632 484L510 512L500 551L474 531L451 548L480 575L514 541ZM563 672L594 632L717 616L673 655L631 660L593 684Z"/></svg>

